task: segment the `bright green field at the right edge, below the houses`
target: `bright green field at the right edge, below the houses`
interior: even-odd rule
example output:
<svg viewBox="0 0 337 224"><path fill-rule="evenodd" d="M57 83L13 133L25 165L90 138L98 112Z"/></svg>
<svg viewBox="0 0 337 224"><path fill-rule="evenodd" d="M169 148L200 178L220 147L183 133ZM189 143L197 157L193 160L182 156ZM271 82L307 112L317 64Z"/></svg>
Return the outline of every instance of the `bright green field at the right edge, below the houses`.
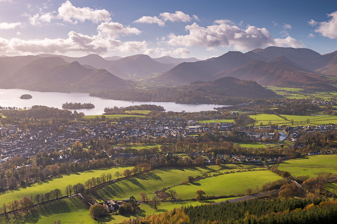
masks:
<svg viewBox="0 0 337 224"><path fill-rule="evenodd" d="M278 165L281 171L288 171L293 176L310 177L337 174L337 155L310 155L305 158L288 160Z"/></svg>

